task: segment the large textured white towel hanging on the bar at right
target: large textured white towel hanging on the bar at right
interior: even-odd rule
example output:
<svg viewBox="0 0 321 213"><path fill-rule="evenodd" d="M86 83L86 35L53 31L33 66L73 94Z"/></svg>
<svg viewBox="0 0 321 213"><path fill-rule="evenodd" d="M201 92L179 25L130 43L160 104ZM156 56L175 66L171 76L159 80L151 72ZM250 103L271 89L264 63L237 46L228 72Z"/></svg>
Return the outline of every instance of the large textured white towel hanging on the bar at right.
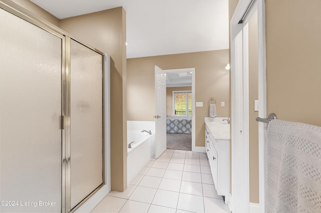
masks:
<svg viewBox="0 0 321 213"><path fill-rule="evenodd" d="M321 212L321 126L271 120L266 212Z"/></svg>

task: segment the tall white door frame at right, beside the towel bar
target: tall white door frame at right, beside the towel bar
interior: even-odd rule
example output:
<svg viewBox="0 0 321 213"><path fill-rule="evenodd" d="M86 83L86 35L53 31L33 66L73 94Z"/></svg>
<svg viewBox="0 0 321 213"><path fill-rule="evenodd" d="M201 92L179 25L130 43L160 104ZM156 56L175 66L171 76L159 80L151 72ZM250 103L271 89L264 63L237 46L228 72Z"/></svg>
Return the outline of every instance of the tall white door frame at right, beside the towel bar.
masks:
<svg viewBox="0 0 321 213"><path fill-rule="evenodd" d="M254 6L248 9L248 5ZM244 14L257 9L258 15L258 99L260 117L266 116L266 44L265 1L240 0L230 22L231 30L231 141L232 204L235 212L250 212L249 202L249 108L248 108L248 18ZM243 17L243 18L242 18ZM250 17L250 16L248 16ZM245 30L243 30L245 27ZM259 206L265 211L265 136L266 124L259 122ZM235 197L235 199L233 199Z"/></svg>

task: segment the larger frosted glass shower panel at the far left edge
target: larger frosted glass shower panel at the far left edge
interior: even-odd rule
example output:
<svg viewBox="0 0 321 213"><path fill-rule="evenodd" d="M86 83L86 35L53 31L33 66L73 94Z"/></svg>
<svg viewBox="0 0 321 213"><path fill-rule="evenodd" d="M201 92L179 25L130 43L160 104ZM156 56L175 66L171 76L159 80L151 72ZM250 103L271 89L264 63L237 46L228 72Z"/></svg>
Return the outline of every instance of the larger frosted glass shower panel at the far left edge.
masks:
<svg viewBox="0 0 321 213"><path fill-rule="evenodd" d="M0 20L0 211L60 212L62 39Z"/></svg>

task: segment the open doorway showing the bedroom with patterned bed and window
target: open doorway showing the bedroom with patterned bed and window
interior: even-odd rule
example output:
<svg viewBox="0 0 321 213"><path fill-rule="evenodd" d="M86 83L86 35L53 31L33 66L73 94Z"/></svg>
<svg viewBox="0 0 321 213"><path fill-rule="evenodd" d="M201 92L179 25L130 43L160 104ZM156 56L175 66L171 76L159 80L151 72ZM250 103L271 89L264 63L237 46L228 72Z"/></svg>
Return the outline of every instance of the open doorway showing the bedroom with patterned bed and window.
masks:
<svg viewBox="0 0 321 213"><path fill-rule="evenodd" d="M155 98L156 102L164 99L166 101L167 122L164 133L167 135L167 148L194 150L195 68L165 69L164 71L166 97L160 97L159 93L155 92ZM155 82L156 78L155 75ZM159 129L156 127L156 132L157 130Z"/></svg>

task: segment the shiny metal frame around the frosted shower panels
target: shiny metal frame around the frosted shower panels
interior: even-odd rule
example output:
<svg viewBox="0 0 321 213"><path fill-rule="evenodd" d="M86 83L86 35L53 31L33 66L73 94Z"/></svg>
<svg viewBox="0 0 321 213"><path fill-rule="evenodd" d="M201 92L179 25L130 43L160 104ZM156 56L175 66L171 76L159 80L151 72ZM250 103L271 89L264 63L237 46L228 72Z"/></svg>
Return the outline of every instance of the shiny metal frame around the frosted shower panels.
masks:
<svg viewBox="0 0 321 213"><path fill-rule="evenodd" d="M86 202L93 194L95 194L100 188L104 186L105 183L105 100L104 100L104 69L105 69L105 58L104 53L83 41L80 41L70 34L66 33L62 29L53 25L52 23L35 16L33 13L29 12L22 6L11 0L0 0L0 8L40 27L41 29L54 34L55 36L62 39L62 67L61 67L61 142L62 142L62 177L61 177L61 212L74 212L79 208L84 202ZM71 193L70 193L70 162L71 162L71 135L70 135L70 40L73 39L89 49L101 54L102 56L102 183L94 189L89 195L87 195L81 202L79 202L74 208L71 209ZM108 124L107 124L108 126Z"/></svg>

